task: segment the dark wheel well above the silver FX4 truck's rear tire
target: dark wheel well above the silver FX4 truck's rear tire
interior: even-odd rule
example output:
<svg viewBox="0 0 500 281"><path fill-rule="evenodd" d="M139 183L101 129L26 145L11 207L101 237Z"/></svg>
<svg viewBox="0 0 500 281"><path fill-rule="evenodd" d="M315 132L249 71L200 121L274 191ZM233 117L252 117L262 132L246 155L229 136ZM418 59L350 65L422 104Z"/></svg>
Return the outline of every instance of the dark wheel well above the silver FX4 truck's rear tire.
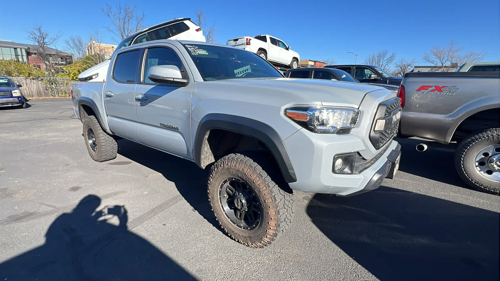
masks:
<svg viewBox="0 0 500 281"><path fill-rule="evenodd" d="M474 131L497 128L500 124L500 108L491 108L474 113L456 127L451 141L459 142Z"/></svg>

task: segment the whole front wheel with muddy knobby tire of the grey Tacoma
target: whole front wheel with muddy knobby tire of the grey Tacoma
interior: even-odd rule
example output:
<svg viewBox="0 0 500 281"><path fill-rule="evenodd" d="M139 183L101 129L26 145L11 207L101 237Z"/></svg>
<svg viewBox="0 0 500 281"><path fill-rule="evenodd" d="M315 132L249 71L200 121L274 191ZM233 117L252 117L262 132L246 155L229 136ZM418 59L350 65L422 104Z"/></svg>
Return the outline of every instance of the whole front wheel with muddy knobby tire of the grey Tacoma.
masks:
<svg viewBox="0 0 500 281"><path fill-rule="evenodd" d="M213 164L208 199L224 231L249 247L271 244L291 221L291 194L242 154L229 154Z"/></svg>

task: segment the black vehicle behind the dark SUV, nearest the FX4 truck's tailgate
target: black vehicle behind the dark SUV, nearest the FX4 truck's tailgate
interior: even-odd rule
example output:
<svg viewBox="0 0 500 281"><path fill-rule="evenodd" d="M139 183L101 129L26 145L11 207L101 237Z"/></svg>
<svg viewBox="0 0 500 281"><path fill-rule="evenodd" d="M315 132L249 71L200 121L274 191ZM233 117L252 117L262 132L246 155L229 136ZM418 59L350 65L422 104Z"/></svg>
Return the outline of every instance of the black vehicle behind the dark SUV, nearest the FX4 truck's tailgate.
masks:
<svg viewBox="0 0 500 281"><path fill-rule="evenodd" d="M399 86L403 77L394 77L382 68L364 64L326 65L324 67L344 70L361 83L389 84Z"/></svg>

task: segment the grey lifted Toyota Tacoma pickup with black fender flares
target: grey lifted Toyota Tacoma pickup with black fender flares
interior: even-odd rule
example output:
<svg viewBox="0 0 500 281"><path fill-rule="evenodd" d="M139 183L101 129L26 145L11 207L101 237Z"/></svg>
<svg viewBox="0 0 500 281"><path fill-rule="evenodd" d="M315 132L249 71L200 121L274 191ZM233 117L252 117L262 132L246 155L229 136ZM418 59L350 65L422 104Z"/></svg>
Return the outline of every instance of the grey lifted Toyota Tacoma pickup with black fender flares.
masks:
<svg viewBox="0 0 500 281"><path fill-rule="evenodd" d="M348 196L392 178L400 98L371 85L285 78L258 55L155 40L112 54L105 82L73 84L95 161L125 138L209 169L221 227L251 247L290 223L293 190ZM202 195L202 194L200 194Z"/></svg>

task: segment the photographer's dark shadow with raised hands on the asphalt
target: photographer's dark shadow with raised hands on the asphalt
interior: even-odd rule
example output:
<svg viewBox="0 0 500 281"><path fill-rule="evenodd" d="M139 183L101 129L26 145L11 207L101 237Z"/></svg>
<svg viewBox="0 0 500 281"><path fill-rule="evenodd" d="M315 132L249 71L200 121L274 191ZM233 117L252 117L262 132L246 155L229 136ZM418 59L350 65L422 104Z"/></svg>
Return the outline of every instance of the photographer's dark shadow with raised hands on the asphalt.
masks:
<svg viewBox="0 0 500 281"><path fill-rule="evenodd" d="M45 243L0 264L1 280L195 280L146 239L127 230L123 206L87 195L59 215ZM118 225L109 222L117 217Z"/></svg>

